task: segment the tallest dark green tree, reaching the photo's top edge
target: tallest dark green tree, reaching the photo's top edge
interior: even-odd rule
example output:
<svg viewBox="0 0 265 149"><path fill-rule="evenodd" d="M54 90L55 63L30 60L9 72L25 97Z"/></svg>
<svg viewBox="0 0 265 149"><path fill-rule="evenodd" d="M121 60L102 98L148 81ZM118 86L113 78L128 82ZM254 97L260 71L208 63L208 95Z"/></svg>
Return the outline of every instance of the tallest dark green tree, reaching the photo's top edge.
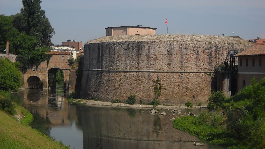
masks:
<svg viewBox="0 0 265 149"><path fill-rule="evenodd" d="M41 9L40 0L22 0L21 8L22 19L19 27L20 31L32 36L37 41L36 46L50 46L51 38L55 34L51 23L45 16L45 11ZM18 16L18 20L20 16Z"/></svg>

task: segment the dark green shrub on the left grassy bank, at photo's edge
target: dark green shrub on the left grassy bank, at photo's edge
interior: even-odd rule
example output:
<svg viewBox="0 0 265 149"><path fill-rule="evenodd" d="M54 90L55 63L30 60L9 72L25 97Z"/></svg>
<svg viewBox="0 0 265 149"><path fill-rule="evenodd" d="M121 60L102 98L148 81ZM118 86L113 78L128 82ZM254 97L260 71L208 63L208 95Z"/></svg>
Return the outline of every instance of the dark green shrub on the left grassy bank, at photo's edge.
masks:
<svg viewBox="0 0 265 149"><path fill-rule="evenodd" d="M7 112L10 115L16 114L15 106L13 105L11 99L3 97L0 95L0 109Z"/></svg>

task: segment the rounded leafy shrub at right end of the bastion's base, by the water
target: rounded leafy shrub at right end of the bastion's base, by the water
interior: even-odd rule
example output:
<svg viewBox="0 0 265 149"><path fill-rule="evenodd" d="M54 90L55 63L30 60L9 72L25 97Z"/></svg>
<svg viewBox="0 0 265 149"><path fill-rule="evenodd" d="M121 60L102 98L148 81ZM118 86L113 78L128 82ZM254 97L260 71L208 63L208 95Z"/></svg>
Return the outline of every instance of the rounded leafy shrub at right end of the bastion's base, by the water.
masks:
<svg viewBox="0 0 265 149"><path fill-rule="evenodd" d="M217 91L213 93L212 95L210 95L209 99L207 100L207 102L209 102L207 104L207 108L209 110L219 108L225 99L226 97L224 96L223 92Z"/></svg>

